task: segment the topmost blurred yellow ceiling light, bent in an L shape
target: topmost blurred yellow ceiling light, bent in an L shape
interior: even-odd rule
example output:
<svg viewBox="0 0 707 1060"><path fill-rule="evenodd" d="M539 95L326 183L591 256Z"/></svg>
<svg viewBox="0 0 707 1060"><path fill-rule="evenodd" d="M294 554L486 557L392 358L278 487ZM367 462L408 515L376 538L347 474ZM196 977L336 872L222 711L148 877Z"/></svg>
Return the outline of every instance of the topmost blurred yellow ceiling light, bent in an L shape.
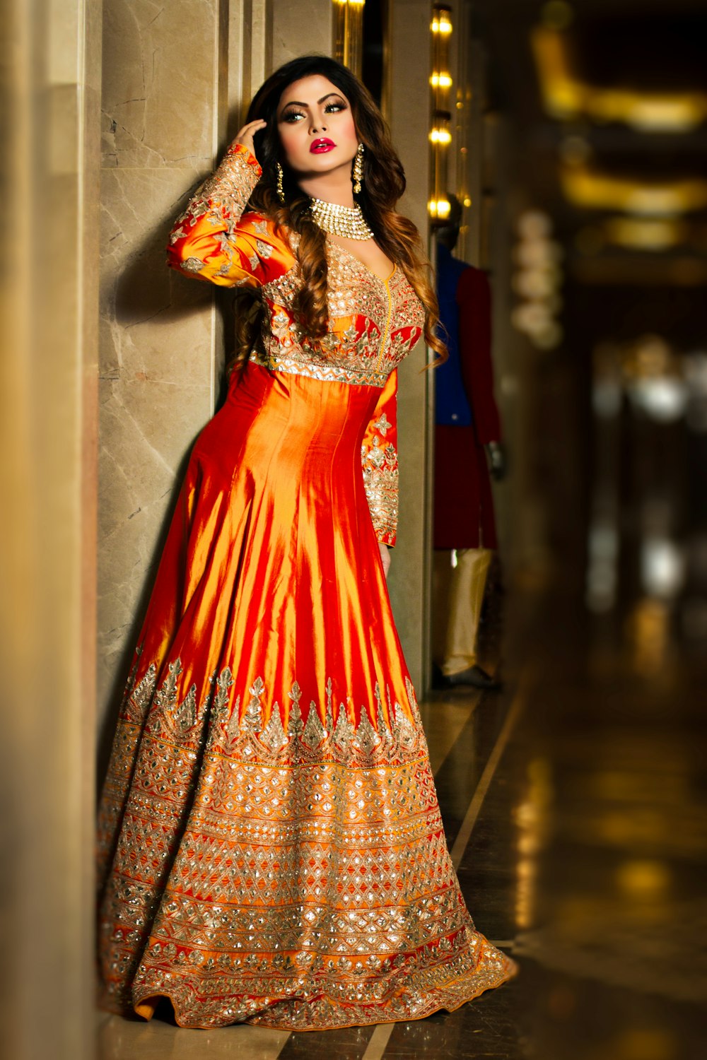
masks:
<svg viewBox="0 0 707 1060"><path fill-rule="evenodd" d="M567 37L536 26L531 43L545 107L563 120L587 116L625 122L646 132L684 132L707 118L705 92L641 92L587 85L571 69Z"/></svg>

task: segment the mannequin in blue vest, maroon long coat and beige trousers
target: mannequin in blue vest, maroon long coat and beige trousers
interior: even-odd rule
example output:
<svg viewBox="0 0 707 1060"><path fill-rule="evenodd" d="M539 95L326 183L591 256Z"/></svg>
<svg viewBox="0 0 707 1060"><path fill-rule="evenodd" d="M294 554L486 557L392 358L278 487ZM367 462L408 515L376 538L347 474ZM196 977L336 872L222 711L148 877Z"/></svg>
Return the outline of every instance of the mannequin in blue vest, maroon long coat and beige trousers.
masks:
<svg viewBox="0 0 707 1060"><path fill-rule="evenodd" d="M491 476L506 472L491 360L485 275L452 255L461 205L449 195L437 230L440 319L449 359L436 374L434 687L498 688L477 662L477 638L493 550Z"/></svg>

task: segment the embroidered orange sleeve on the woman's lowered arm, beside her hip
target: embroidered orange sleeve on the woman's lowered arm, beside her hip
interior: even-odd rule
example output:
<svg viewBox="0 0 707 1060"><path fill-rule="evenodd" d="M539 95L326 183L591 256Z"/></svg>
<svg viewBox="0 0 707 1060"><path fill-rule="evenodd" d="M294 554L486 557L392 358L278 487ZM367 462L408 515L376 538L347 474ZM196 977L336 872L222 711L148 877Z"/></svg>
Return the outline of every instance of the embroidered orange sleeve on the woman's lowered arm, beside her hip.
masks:
<svg viewBox="0 0 707 1060"><path fill-rule="evenodd" d="M364 435L361 463L368 507L382 545L394 545L397 530L397 371L388 376Z"/></svg>

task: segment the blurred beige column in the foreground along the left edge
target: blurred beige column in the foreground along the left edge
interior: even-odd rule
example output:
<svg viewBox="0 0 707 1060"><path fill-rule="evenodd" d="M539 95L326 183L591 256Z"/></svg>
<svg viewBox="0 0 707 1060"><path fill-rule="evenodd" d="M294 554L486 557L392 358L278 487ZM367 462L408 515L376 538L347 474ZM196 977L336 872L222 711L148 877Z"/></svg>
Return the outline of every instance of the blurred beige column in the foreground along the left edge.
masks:
<svg viewBox="0 0 707 1060"><path fill-rule="evenodd" d="M92 1055L100 0L3 5L3 1046Z"/></svg>

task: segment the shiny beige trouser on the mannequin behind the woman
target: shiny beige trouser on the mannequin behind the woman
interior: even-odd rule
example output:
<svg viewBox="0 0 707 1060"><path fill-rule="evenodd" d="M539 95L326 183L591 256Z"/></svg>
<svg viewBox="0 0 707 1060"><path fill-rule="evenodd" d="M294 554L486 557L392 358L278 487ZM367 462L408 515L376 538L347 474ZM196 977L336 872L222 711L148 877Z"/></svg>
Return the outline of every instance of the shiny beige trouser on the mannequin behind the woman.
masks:
<svg viewBox="0 0 707 1060"><path fill-rule="evenodd" d="M476 662L483 590L492 551L459 548L454 553L435 549L432 567L432 657L445 677Z"/></svg>

